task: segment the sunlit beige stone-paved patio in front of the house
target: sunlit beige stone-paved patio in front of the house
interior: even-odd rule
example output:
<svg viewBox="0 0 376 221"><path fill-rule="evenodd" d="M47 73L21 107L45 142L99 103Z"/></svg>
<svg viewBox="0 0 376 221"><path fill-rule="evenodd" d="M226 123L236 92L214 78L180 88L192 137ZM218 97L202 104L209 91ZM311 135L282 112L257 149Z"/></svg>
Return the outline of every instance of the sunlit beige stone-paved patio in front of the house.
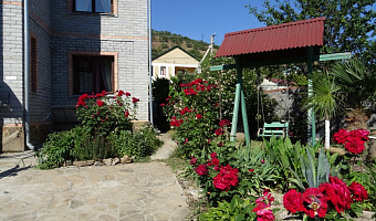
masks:
<svg viewBox="0 0 376 221"><path fill-rule="evenodd" d="M53 170L27 166L4 172L0 171L0 220L179 221L189 213L182 189L165 162Z"/></svg>

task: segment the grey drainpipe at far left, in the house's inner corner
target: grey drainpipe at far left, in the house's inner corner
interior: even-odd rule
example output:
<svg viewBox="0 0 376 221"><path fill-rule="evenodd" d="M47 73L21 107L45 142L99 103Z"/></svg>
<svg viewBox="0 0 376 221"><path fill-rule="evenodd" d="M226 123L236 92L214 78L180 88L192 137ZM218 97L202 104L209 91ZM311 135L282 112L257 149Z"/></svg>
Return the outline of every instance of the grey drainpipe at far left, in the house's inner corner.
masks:
<svg viewBox="0 0 376 221"><path fill-rule="evenodd" d="M24 131L27 147L34 150L30 143L30 116L29 116L29 1L23 0L23 88L24 88Z"/></svg>

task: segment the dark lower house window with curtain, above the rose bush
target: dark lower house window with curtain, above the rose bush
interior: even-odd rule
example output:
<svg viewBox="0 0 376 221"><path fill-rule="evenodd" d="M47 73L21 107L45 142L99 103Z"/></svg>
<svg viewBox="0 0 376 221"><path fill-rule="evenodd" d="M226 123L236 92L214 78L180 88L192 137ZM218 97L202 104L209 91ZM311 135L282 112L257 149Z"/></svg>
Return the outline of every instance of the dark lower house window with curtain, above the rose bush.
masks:
<svg viewBox="0 0 376 221"><path fill-rule="evenodd" d="M73 93L100 93L103 90L113 93L114 56L73 57Z"/></svg>

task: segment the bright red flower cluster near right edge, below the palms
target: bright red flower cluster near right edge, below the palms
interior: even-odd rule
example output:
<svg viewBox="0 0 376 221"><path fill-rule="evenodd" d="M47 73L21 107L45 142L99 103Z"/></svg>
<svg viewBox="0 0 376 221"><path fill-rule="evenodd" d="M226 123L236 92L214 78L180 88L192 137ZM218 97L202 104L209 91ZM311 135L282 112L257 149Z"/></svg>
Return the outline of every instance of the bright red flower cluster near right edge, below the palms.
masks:
<svg viewBox="0 0 376 221"><path fill-rule="evenodd" d="M333 135L335 143L345 145L345 149L352 154L362 154L364 143L368 140L369 131L366 129L354 129L347 131L340 129Z"/></svg>

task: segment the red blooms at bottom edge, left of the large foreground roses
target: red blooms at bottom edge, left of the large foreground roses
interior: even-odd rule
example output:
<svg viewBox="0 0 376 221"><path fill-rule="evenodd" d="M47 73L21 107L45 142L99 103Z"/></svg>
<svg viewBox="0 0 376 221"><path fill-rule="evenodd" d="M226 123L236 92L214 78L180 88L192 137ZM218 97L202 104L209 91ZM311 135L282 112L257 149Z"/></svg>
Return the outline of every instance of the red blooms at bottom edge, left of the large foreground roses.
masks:
<svg viewBox="0 0 376 221"><path fill-rule="evenodd" d="M275 220L273 212L269 209L274 201L270 190L263 191L263 197L255 200L257 207L252 210L258 215L258 221L272 221Z"/></svg>

